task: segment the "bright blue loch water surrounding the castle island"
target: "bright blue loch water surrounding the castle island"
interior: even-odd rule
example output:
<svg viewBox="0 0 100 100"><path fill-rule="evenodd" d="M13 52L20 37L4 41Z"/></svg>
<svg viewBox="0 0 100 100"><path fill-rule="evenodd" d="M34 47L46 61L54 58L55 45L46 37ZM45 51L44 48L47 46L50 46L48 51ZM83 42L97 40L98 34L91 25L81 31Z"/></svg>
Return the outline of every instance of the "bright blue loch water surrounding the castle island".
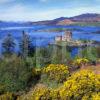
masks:
<svg viewBox="0 0 100 100"><path fill-rule="evenodd" d="M94 40L100 42L100 27L96 26L46 26L46 25L31 25L31 26L2 26L0 25L0 52L2 51L2 41L7 36L7 34L12 34L15 43L16 43L16 51L19 50L18 43L22 38L22 32L25 31L33 42L34 46L47 46L50 43L55 41L55 37L59 35L63 35L64 31L60 32L43 32L39 30L44 29L55 29L55 28L63 28L72 30L72 39L73 40ZM73 49L74 53L76 52L76 48Z"/></svg>

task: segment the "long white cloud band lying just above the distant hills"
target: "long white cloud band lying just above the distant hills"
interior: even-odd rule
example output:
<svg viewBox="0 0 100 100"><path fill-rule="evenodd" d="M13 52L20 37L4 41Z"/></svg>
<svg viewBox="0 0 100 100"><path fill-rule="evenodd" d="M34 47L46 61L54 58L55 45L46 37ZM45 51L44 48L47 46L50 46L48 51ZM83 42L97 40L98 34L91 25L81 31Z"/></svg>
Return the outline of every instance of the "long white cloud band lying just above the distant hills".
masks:
<svg viewBox="0 0 100 100"><path fill-rule="evenodd" d="M75 7L72 9L68 8L53 8L38 10L35 8L28 8L21 4L16 4L0 12L0 20L4 21L40 21L50 20L58 17L70 17L79 15L82 13L100 13L100 7Z"/></svg>

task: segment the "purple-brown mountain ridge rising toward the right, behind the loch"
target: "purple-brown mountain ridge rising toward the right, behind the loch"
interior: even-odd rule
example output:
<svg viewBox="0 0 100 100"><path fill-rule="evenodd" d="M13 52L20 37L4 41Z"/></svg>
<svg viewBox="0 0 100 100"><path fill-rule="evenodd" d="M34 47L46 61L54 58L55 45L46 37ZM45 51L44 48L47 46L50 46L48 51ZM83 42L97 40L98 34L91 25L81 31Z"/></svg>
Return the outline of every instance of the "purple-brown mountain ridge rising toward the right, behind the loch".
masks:
<svg viewBox="0 0 100 100"><path fill-rule="evenodd" d="M54 20L32 22L32 24L42 25L69 25L76 22L100 22L100 14L87 13L74 17L60 17Z"/></svg>

